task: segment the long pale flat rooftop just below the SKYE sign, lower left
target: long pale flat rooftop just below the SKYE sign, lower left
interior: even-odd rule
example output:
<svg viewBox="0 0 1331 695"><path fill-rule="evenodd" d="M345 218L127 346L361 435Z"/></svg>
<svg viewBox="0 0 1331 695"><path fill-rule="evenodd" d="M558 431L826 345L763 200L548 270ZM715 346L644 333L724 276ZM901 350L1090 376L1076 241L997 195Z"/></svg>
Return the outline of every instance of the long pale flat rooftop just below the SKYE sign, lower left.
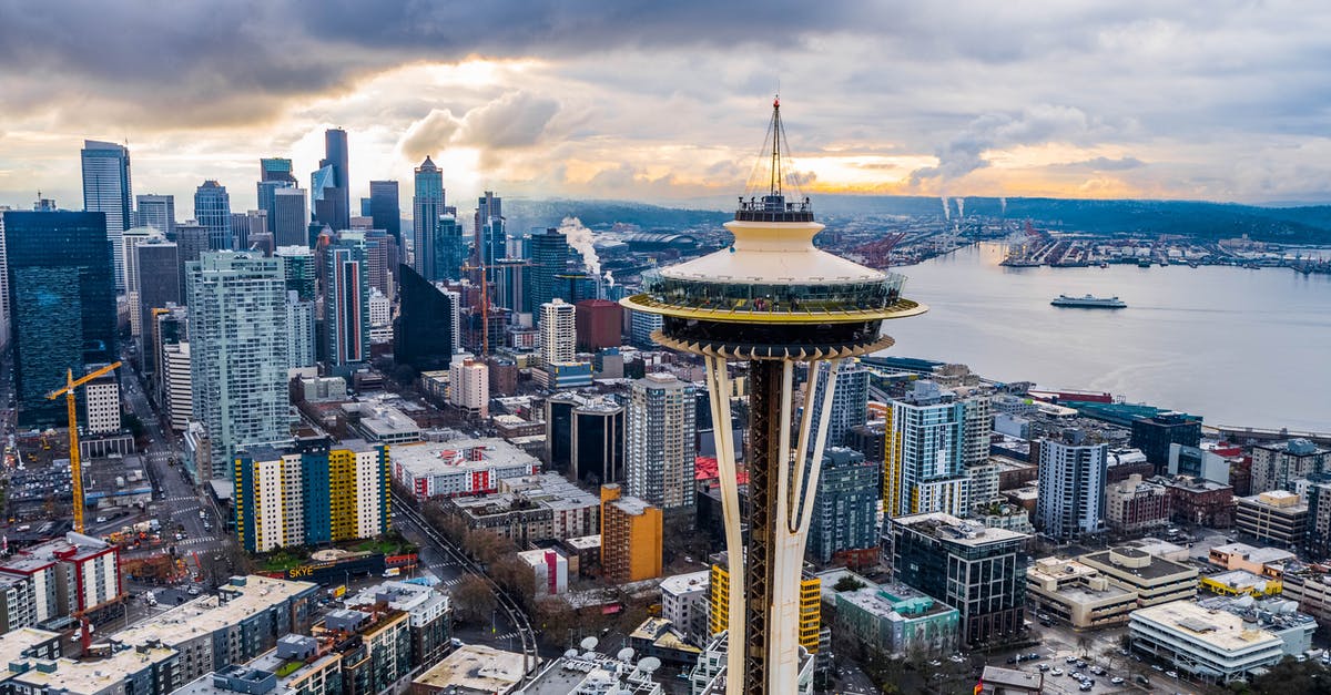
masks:
<svg viewBox="0 0 1331 695"><path fill-rule="evenodd" d="M241 580L242 583L236 583ZM230 584L221 587L221 595L200 596L189 603L154 615L112 635L112 640L122 644L146 644L158 640L162 644L180 644L200 635L230 627L258 611L311 591L318 584L291 582L252 574L232 578Z"/></svg>

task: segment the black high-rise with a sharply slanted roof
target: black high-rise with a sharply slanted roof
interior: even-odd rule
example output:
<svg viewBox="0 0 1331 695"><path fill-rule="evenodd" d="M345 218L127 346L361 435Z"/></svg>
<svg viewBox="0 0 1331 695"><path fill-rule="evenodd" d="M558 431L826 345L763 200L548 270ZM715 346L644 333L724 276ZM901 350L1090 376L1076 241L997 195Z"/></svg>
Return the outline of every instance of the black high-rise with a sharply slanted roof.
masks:
<svg viewBox="0 0 1331 695"><path fill-rule="evenodd" d="M447 369L457 351L457 294L450 296L407 265L398 272L402 294L393 322L393 358L417 371Z"/></svg>

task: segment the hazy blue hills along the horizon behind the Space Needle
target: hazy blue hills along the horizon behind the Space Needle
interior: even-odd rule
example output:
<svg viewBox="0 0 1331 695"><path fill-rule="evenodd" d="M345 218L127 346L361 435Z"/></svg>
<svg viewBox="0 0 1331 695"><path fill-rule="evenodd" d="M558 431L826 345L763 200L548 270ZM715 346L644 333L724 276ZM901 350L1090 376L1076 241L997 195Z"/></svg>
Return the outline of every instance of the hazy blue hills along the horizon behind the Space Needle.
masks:
<svg viewBox="0 0 1331 695"><path fill-rule="evenodd" d="M1331 245L1331 205L1258 206L1231 202L1170 200L1073 200L1073 198L965 198L966 216L1006 216L1032 220L1036 226L1095 234L1179 234L1215 241L1247 234L1256 241ZM708 198L696 208L668 208L604 200L506 200L508 229L558 225L578 217L590 228L615 222L654 228L715 228L732 218L731 198ZM949 197L950 214L957 204ZM712 209L708 209L712 208ZM857 214L942 216L942 201L925 196L820 194L813 209L825 220Z"/></svg>

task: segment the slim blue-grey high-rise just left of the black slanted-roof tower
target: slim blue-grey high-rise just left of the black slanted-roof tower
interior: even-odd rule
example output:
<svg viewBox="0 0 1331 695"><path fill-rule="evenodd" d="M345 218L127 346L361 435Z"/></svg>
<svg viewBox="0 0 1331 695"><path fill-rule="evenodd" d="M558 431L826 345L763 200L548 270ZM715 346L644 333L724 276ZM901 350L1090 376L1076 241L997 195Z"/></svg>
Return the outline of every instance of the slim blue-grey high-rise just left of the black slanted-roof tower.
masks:
<svg viewBox="0 0 1331 695"><path fill-rule="evenodd" d="M323 282L325 354L330 367L354 369L370 359L370 281L365 246L355 238L343 238L323 253L327 258Z"/></svg>

